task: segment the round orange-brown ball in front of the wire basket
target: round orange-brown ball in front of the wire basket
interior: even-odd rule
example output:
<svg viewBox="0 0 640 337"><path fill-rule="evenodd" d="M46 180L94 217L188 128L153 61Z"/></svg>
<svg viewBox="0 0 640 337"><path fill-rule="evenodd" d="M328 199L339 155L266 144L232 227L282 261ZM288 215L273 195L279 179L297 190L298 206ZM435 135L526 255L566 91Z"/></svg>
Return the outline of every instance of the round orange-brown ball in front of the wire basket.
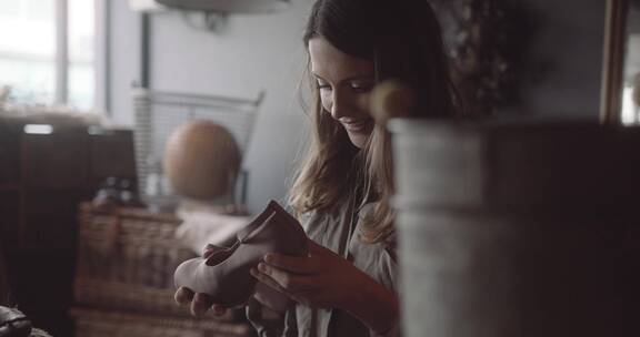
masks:
<svg viewBox="0 0 640 337"><path fill-rule="evenodd" d="M231 195L241 154L231 133L208 120L193 120L173 131L163 166L177 194L211 201Z"/></svg>

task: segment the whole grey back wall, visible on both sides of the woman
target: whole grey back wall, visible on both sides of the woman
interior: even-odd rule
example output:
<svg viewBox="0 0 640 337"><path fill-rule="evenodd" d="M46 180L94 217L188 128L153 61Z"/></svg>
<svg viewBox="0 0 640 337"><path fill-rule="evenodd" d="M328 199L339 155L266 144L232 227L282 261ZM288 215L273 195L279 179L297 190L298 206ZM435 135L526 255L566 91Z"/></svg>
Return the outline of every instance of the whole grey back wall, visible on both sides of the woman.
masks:
<svg viewBox="0 0 640 337"><path fill-rule="evenodd" d="M531 12L534 71L524 79L523 104L509 114L597 119L600 96L604 1L509 0ZM181 92L267 99L246 156L251 211L282 198L301 140L296 84L303 65L300 38L311 0L290 10L231 17L223 32L193 29L178 13L151 20L151 86ZM140 19L126 1L112 1L112 106L116 120L132 123L129 88L140 73Z"/></svg>

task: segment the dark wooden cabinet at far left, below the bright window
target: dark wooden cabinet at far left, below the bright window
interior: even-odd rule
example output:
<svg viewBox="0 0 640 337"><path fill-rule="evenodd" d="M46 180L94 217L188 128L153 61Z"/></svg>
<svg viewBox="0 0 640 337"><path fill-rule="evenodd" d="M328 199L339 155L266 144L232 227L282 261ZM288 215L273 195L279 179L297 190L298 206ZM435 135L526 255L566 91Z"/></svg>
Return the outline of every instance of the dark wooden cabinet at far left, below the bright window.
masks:
<svg viewBox="0 0 640 337"><path fill-rule="evenodd" d="M78 205L108 176L134 181L134 167L131 130L54 127L50 134L28 134L23 124L0 120L0 246L11 302L37 327L73 335L68 310Z"/></svg>

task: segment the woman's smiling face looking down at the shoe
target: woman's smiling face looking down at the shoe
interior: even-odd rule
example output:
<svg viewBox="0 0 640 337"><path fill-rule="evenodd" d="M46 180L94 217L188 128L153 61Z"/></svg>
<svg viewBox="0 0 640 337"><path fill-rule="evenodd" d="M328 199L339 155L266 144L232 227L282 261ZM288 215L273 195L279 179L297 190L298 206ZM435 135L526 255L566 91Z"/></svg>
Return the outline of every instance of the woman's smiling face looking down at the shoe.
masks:
<svg viewBox="0 0 640 337"><path fill-rule="evenodd" d="M309 41L309 54L323 110L344 126L351 143L362 149L373 130L369 113L376 85L373 62L346 54L322 38Z"/></svg>

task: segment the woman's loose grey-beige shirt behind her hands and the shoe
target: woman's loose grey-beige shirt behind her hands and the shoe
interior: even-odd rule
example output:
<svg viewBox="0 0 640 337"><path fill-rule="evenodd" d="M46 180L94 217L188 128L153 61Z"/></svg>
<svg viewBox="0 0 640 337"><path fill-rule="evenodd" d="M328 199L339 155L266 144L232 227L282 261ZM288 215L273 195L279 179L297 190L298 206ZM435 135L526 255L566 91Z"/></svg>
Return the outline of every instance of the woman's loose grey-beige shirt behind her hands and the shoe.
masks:
<svg viewBox="0 0 640 337"><path fill-rule="evenodd" d="M387 289L398 294L398 265L396 236L376 244L362 243L357 233L361 219L372 211L367 204L356 213L349 203L338 203L329 212L310 212L302 216L301 224L309 238L349 259L356 267L367 273ZM259 305L250 302L251 305ZM339 309L316 309L296 304L287 310L284 321L266 327L254 319L251 323L259 336L328 337L328 336L380 336L369 330L358 319ZM382 336L400 336L398 324Z"/></svg>

